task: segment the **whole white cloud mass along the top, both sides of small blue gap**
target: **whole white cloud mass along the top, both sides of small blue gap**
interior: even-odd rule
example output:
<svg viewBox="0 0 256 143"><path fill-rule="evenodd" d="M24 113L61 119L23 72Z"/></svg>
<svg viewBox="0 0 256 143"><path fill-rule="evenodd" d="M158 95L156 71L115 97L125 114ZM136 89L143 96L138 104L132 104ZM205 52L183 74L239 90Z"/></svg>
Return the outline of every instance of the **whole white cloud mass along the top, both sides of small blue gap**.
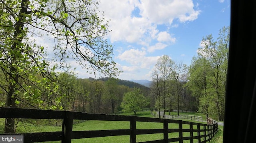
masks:
<svg viewBox="0 0 256 143"><path fill-rule="evenodd" d="M171 25L174 19L193 21L200 14L194 10L192 0L101 0L99 9L104 11L106 20L110 19L112 31L108 38L112 43L126 41L140 45L148 45L157 38L158 24ZM134 15L134 10L139 15Z"/></svg>

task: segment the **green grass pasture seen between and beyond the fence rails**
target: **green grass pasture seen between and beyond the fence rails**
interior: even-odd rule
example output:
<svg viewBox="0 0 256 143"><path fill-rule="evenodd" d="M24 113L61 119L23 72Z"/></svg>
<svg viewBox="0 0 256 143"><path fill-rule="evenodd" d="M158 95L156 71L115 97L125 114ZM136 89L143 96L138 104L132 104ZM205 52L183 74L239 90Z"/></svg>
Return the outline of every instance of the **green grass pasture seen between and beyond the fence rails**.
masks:
<svg viewBox="0 0 256 143"><path fill-rule="evenodd" d="M175 113L172 113L175 114ZM184 113L180 113L184 114ZM202 116L199 113L185 113L187 115L196 115ZM134 116L133 113L124 113L121 115L126 116ZM150 111L146 112L137 112L136 116L142 117L152 117ZM190 120L186 120L190 121ZM194 121L195 122L195 121ZM202 123L202 122L200 122ZM17 127L17 132L50 132L50 131L61 131L62 127L59 126L48 126L48 125L31 125L27 123L25 127L20 125ZM129 129L130 123L128 121L85 121L83 123L78 123L73 125L73 131L84 131L84 130L105 130L105 129ZM150 122L136 122L137 129L162 129L163 123L150 123ZM178 128L178 124L169 123L169 128ZM196 128L196 126L194 126ZM183 125L183 129L189 129L189 125ZM4 130L4 119L0 120L0 133L3 133ZM223 127L220 127L220 131L216 138L212 140L210 143L222 143L222 134ZM197 133L194 133L197 135ZM190 133L183 133L183 137L190 136ZM178 133L169 133L169 138L178 137ZM151 134L151 135L137 135L136 142L142 141L152 141L163 139L163 134ZM112 136L112 137L97 137L97 138L88 138L88 139L73 139L72 143L129 143L130 137L129 135L124 136ZM197 139L194 140L197 142ZM60 141L51 141L47 143L60 143ZM184 141L184 143L190 143L190 141Z"/></svg>

